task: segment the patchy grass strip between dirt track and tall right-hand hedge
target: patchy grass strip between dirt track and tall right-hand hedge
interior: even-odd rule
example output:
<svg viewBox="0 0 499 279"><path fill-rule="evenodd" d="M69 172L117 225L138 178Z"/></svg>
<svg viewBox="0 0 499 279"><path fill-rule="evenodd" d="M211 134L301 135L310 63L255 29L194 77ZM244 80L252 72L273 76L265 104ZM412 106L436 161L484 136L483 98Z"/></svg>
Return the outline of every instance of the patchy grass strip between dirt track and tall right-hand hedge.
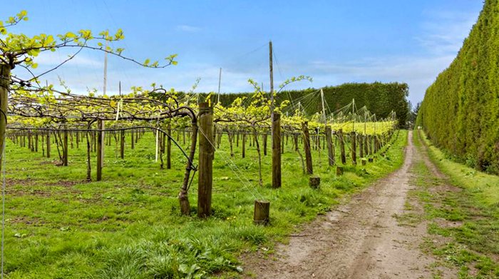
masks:
<svg viewBox="0 0 499 279"><path fill-rule="evenodd" d="M447 159L422 131L414 143L448 176L438 178L416 163L417 195L428 220L423 249L438 257L437 266L458 268L458 278L499 278L499 177Z"/></svg>

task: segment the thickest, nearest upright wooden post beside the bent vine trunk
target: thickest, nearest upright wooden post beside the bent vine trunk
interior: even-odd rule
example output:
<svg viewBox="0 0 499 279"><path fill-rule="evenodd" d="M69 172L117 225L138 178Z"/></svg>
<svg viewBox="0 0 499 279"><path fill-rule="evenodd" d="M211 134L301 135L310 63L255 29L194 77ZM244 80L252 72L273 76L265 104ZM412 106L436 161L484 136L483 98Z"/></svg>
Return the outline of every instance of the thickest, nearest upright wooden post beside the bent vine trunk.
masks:
<svg viewBox="0 0 499 279"><path fill-rule="evenodd" d="M197 217L206 218L212 213L213 156L213 108L208 103L200 103L200 151L197 181Z"/></svg>

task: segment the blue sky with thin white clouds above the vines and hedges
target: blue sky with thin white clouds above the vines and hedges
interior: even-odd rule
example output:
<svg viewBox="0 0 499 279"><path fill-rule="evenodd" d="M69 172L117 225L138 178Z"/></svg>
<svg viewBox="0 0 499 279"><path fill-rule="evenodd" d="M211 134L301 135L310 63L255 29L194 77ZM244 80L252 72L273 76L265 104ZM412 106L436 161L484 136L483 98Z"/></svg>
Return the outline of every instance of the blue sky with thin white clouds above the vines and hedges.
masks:
<svg viewBox="0 0 499 279"><path fill-rule="evenodd" d="M178 66L141 69L111 58L108 91L163 84L189 90L252 91L253 78L268 90L268 41L274 44L275 83L297 75L312 83L290 88L334 86L345 82L399 81L410 86L409 99L421 101L426 88L446 69L480 13L477 0L380 1L9 1L0 18L28 11L29 21L13 32L61 34L118 28L124 54L139 61L178 54ZM38 59L38 71L68 53ZM21 70L19 75L21 75ZM84 51L45 78L60 76L74 91L103 87L103 54Z"/></svg>

